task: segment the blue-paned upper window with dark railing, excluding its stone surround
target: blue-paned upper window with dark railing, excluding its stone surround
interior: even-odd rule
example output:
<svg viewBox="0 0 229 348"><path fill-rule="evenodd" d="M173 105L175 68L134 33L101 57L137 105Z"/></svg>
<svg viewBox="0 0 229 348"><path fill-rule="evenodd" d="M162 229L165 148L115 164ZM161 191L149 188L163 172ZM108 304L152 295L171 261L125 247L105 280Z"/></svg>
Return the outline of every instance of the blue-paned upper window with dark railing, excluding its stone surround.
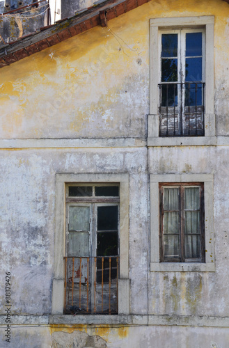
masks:
<svg viewBox="0 0 229 348"><path fill-rule="evenodd" d="M159 34L159 135L204 135L205 30Z"/></svg>

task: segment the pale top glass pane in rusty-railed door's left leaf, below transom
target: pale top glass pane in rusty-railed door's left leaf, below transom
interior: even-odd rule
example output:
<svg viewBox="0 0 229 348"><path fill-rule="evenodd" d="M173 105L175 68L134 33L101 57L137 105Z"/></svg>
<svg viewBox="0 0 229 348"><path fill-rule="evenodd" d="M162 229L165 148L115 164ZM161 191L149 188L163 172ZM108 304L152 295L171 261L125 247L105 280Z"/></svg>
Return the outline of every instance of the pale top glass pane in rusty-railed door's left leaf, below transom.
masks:
<svg viewBox="0 0 229 348"><path fill-rule="evenodd" d="M70 231L89 230L89 207L69 207L69 226Z"/></svg>

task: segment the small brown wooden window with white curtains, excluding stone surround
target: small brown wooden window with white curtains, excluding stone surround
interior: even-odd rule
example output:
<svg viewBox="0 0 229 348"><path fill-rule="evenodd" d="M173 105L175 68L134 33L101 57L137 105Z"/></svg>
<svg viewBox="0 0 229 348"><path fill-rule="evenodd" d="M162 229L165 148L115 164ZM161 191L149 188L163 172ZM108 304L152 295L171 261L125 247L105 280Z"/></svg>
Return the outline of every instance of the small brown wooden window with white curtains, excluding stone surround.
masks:
<svg viewBox="0 0 229 348"><path fill-rule="evenodd" d="M161 184L161 262L205 262L203 183Z"/></svg>

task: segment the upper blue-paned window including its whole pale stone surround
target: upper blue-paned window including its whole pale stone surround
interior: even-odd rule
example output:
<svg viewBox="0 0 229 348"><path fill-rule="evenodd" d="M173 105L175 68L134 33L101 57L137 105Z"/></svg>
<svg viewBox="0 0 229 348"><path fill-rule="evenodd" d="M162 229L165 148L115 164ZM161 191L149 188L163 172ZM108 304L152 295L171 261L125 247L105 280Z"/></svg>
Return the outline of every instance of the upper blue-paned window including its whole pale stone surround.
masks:
<svg viewBox="0 0 229 348"><path fill-rule="evenodd" d="M148 145L214 143L214 17L150 19Z"/></svg>

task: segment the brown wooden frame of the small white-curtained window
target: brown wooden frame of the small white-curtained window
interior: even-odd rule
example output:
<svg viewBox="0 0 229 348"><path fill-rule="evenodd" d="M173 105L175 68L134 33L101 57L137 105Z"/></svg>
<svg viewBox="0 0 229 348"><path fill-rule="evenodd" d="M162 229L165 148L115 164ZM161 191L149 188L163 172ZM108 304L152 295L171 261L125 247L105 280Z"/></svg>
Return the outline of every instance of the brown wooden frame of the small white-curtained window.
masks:
<svg viewBox="0 0 229 348"><path fill-rule="evenodd" d="M180 258L166 258L164 255L164 207L163 189L177 188L180 190L179 216L180 216ZM186 187L200 187L200 258L184 257L184 189ZM203 182L170 182L159 183L159 243L160 243L160 262L205 262L205 207L204 207L204 184Z"/></svg>

